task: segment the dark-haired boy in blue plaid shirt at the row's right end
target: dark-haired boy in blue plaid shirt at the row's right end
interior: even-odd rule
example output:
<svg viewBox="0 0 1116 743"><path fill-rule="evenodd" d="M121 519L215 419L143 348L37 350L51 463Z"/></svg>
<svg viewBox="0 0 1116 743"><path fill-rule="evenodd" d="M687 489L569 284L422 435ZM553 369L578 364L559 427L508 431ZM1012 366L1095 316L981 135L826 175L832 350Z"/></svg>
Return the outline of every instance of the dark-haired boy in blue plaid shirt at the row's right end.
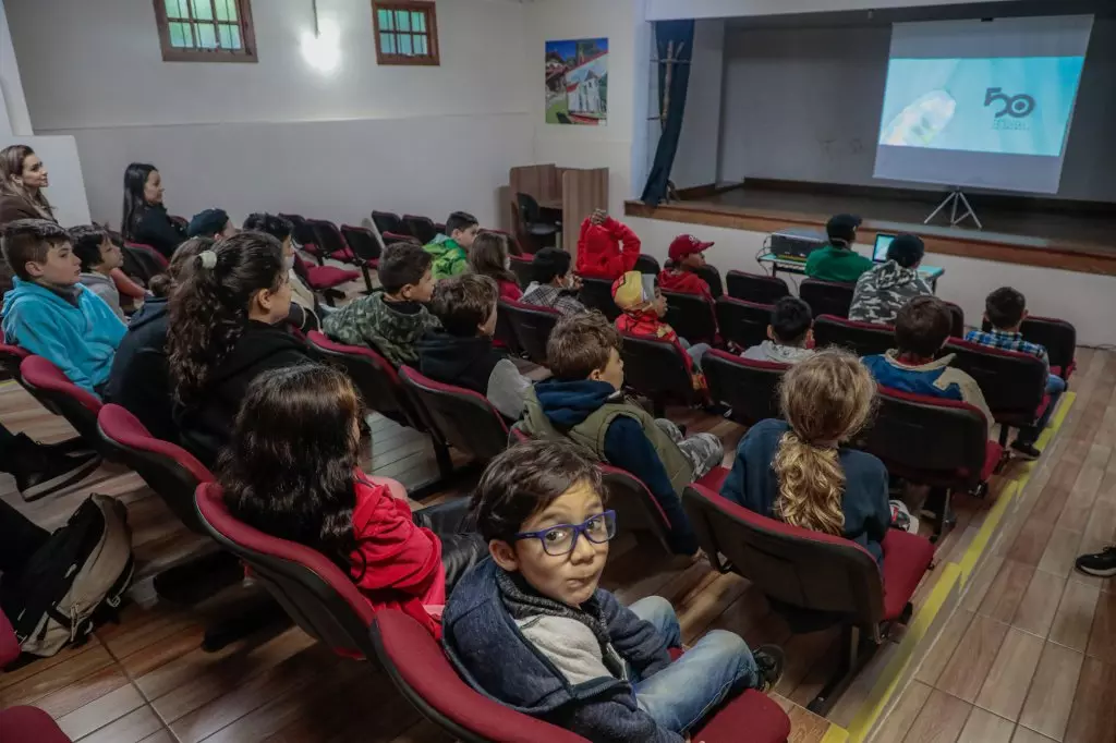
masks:
<svg viewBox="0 0 1116 743"><path fill-rule="evenodd" d="M1001 287L990 293L984 300L984 319L989 321L992 329L989 331L970 330L965 335L965 340L989 348L1000 348L1002 350L1030 354L1042 360L1047 367L1047 394L1050 395L1050 404L1033 426L1019 430L1019 436L1011 444L1017 453L1028 459L1036 459L1039 450L1035 447L1035 441L1050 421L1055 408L1058 406L1058 398L1066 392L1065 380L1056 374L1050 374L1050 358L1047 349L1029 340L1023 340L1023 334L1019 331L1019 326L1027 319L1027 299L1022 292L1011 287Z"/></svg>

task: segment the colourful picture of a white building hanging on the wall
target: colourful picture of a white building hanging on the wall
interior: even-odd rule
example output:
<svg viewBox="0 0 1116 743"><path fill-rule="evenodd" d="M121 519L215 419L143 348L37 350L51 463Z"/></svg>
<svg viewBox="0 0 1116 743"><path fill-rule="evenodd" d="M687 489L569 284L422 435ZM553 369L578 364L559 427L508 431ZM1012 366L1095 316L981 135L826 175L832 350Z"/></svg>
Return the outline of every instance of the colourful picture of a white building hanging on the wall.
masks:
<svg viewBox="0 0 1116 743"><path fill-rule="evenodd" d="M547 41L547 124L608 120L608 39Z"/></svg>

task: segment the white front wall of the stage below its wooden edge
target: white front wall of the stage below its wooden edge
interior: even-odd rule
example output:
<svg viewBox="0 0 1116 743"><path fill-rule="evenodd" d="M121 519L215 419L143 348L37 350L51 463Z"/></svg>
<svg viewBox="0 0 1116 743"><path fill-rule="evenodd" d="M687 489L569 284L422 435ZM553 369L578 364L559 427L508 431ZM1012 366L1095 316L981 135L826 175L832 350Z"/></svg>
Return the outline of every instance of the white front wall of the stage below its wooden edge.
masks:
<svg viewBox="0 0 1116 743"><path fill-rule="evenodd" d="M627 224L639 234L644 252L660 262L666 259L671 240L692 232L701 240L716 243L705 258L721 271L721 276L733 269L766 272L756 261L768 237L763 233L637 218L628 218ZM856 248L865 255L872 252L870 245L858 244ZM980 324L988 292L997 287L1012 286L1027 297L1030 311L1072 322L1079 344L1116 344L1116 328L1112 322L1112 309L1116 307L1116 277L937 253L927 253L924 262L945 269L945 274L937 282L937 296L960 305L969 325ZM786 278L792 288L801 279L779 276Z"/></svg>

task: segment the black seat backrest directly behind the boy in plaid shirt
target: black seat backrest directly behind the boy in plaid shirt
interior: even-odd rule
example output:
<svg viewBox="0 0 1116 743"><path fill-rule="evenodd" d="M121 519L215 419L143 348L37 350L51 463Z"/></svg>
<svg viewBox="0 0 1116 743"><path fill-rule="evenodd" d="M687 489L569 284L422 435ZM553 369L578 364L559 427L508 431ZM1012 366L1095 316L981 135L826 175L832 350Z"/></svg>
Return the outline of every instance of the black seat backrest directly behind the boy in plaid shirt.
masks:
<svg viewBox="0 0 1116 743"><path fill-rule="evenodd" d="M1030 425L1046 395L1046 366L1030 354L989 348L951 338L945 350L955 354L953 366L965 372L984 394L984 402L1000 423Z"/></svg>

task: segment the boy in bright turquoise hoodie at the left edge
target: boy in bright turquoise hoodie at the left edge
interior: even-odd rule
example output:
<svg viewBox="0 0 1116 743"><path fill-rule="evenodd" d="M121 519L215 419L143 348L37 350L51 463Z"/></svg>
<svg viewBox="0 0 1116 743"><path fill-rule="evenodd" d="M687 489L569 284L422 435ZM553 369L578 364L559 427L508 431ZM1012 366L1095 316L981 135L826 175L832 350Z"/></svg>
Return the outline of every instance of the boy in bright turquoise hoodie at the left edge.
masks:
<svg viewBox="0 0 1116 743"><path fill-rule="evenodd" d="M2 249L16 274L3 298L4 338L99 395L127 327L79 283L81 261L69 234L47 220L16 220L4 226Z"/></svg>

